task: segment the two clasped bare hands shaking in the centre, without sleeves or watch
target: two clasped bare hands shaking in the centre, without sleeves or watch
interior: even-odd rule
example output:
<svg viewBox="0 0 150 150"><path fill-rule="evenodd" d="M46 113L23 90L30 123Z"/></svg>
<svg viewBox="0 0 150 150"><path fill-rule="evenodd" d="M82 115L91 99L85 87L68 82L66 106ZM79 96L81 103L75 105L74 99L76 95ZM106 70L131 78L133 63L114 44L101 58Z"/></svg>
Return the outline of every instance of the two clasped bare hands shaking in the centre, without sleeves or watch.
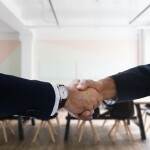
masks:
<svg viewBox="0 0 150 150"><path fill-rule="evenodd" d="M74 117L90 120L94 109L102 101L116 97L116 85L112 78L108 77L99 81L75 80L67 86L69 95L64 108Z"/></svg>

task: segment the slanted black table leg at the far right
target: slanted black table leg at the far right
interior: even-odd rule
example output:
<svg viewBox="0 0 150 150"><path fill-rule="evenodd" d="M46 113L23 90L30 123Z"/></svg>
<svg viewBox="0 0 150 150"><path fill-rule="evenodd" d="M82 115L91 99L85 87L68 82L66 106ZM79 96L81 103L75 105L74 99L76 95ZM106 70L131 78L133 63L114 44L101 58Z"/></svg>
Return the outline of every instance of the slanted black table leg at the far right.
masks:
<svg viewBox="0 0 150 150"><path fill-rule="evenodd" d="M140 109L140 104L135 104L136 109L137 109L137 116L138 116L138 121L139 121L139 128L140 128L140 132L141 132L141 139L142 140L146 140L146 134L145 134L145 129L144 129L144 125L143 125L143 119L142 119L142 115L141 115L141 109Z"/></svg>

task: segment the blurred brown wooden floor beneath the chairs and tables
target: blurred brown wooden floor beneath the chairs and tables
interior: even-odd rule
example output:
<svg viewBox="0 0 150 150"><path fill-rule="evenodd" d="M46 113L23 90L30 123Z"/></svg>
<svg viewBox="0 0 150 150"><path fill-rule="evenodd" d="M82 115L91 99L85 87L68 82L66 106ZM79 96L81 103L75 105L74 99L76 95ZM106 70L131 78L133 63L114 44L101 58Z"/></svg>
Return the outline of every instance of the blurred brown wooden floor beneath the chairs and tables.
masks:
<svg viewBox="0 0 150 150"><path fill-rule="evenodd" d="M53 143L49 136L49 132L46 128L43 128L38 136L36 142L33 144L32 139L39 125L39 121L36 120L36 125L32 126L29 122L24 127L25 140L20 142L18 140L17 124L14 123L13 128L16 132L12 135L7 129L8 143L4 142L2 129L0 129L0 150L148 150L150 149L150 130L147 132L147 140L141 141L139 129L136 125L131 123L130 128L132 130L135 142L131 142L123 126L120 126L119 134L117 134L115 143L112 142L111 137L108 136L108 132L112 127L113 121L108 121L104 127L102 127L102 121L94 121L95 128L101 137L101 141L97 142L94 138L89 123L86 123L83 139L81 143L78 143L77 134L77 121L71 122L70 134L67 142L64 142L65 131L65 115L66 112L59 113L60 128L57 126L56 121L52 123L57 130L56 142Z"/></svg>

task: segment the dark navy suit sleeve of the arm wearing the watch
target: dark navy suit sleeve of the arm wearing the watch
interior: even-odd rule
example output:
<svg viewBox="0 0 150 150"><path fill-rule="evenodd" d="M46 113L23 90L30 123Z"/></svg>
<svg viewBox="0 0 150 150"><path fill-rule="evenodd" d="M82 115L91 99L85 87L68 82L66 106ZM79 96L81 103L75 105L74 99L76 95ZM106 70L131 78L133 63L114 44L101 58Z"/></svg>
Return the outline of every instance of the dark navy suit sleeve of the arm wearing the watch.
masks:
<svg viewBox="0 0 150 150"><path fill-rule="evenodd" d="M48 118L55 104L50 83L0 74L0 113Z"/></svg>

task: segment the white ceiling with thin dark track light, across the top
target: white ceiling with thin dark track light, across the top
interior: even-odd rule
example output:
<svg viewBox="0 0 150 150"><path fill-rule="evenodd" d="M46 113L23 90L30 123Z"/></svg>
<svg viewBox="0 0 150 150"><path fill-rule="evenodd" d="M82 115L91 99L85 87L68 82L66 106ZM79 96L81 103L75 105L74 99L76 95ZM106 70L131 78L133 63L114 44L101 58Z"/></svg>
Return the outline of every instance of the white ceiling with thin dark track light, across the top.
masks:
<svg viewBox="0 0 150 150"><path fill-rule="evenodd" d="M126 27L150 0L0 0L29 29ZM7 17L7 16L6 16ZM0 32L12 29L0 21Z"/></svg>

